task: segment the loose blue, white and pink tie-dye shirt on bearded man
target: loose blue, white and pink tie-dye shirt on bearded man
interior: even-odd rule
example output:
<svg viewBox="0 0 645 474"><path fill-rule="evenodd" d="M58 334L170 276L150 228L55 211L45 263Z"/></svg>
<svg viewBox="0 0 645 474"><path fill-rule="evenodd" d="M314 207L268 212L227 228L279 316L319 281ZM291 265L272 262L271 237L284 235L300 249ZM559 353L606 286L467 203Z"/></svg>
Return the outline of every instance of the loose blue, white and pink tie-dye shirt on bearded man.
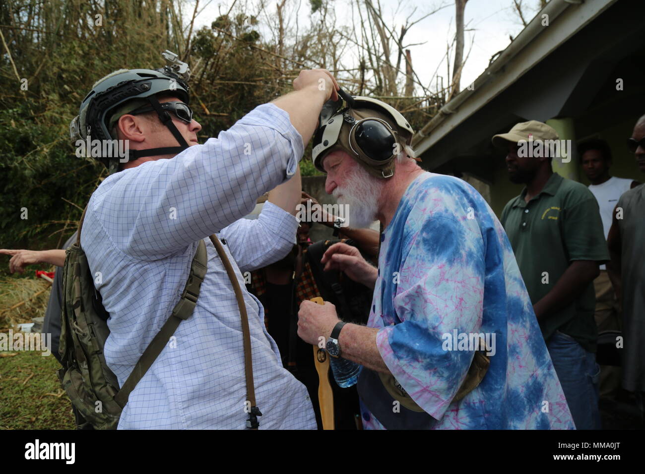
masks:
<svg viewBox="0 0 645 474"><path fill-rule="evenodd" d="M368 326L433 428L574 428L506 233L461 179L425 172L404 193L381 236ZM474 355L459 342L475 333L490 367L452 402ZM383 428L361 411L366 428Z"/></svg>

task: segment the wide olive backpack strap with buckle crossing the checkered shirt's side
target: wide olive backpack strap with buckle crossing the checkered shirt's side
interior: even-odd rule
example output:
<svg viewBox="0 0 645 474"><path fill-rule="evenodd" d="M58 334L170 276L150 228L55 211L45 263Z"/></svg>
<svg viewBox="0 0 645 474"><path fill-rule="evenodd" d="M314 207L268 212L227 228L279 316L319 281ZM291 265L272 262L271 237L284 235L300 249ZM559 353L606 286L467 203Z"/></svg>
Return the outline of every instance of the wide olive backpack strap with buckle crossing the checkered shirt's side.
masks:
<svg viewBox="0 0 645 474"><path fill-rule="evenodd" d="M124 382L123 387L121 387L119 393L114 397L114 401L117 402L121 408L128 403L130 392L134 390L137 383L139 383L139 380L143 378L148 369L152 366L153 362L157 357L159 357L159 354L163 351L166 343L175 333L175 330L177 330L179 323L184 319L188 319L195 310L197 297L199 297L199 289L204 281L204 277L206 276L207 264L208 254L206 253L206 244L204 244L204 241L199 241L197 252L195 252L195 257L193 257L193 261L190 264L190 275L188 275L188 281L186 281L186 286L184 287L183 293L181 293L179 302L175 304L175 308L172 310L172 314L168 318L168 321L161 326L161 330L159 330L157 335L155 335L146 350L143 351L143 354L139 358L137 365L134 366L132 373L130 373L130 376Z"/></svg>

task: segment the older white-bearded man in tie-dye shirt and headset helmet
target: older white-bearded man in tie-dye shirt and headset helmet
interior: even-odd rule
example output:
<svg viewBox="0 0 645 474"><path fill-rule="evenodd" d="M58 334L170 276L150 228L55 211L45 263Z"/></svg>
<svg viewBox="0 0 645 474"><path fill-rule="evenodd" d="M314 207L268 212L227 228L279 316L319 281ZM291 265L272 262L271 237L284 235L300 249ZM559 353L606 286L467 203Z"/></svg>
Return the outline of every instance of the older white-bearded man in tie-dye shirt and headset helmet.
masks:
<svg viewBox="0 0 645 474"><path fill-rule="evenodd" d="M379 266L346 244L323 256L374 289L367 327L304 301L298 334L359 364L366 428L572 429L506 233L455 177L424 172L412 128L374 99L323 108L313 162L348 224L381 221Z"/></svg>

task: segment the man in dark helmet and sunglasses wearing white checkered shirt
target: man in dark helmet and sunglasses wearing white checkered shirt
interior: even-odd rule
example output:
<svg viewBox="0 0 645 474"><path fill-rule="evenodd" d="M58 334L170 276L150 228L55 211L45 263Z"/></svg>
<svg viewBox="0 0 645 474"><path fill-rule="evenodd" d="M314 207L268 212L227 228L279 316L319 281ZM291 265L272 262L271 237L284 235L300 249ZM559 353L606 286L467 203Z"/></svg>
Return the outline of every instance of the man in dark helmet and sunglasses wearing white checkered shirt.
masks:
<svg viewBox="0 0 645 474"><path fill-rule="evenodd" d="M230 230L253 210L257 197L297 175L303 143L338 87L326 70L303 71L293 92L199 144L201 125L187 105L187 81L181 62L178 68L114 72L94 84L70 124L74 138L130 144L126 163L101 157L110 176L90 198L81 233L90 269L101 273L95 289L110 314L104 357L119 386L179 301L199 241L208 253L192 316L177 327L176 347L166 346L130 393L119 429L249 426L240 311L207 237ZM236 243L267 247L251 235L245 239ZM233 248L222 243L240 273ZM284 370L259 301L241 288L261 428L315 429L306 388Z"/></svg>

